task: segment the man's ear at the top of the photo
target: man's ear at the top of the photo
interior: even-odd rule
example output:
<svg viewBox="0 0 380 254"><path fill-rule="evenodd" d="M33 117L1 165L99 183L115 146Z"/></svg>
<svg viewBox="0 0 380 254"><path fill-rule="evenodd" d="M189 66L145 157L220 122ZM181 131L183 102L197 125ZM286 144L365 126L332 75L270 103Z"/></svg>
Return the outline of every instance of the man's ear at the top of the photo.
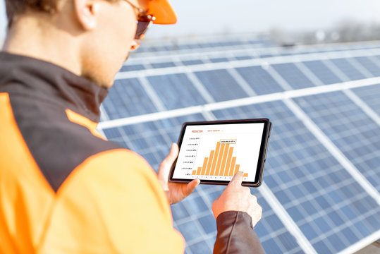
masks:
<svg viewBox="0 0 380 254"><path fill-rule="evenodd" d="M93 30L97 25L97 1L73 0L75 16L85 30Z"/></svg>

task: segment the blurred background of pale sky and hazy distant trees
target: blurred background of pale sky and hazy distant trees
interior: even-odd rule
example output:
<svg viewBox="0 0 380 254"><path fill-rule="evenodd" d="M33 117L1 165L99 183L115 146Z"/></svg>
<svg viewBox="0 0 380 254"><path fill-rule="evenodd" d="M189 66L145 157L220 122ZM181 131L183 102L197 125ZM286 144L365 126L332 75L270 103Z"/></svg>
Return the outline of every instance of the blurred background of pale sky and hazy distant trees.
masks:
<svg viewBox="0 0 380 254"><path fill-rule="evenodd" d="M264 33L280 43L376 40L380 3L376 0L193 0L171 1L176 25L160 26L146 39ZM0 1L0 38L6 33L4 0ZM284 41L283 41L284 40Z"/></svg>

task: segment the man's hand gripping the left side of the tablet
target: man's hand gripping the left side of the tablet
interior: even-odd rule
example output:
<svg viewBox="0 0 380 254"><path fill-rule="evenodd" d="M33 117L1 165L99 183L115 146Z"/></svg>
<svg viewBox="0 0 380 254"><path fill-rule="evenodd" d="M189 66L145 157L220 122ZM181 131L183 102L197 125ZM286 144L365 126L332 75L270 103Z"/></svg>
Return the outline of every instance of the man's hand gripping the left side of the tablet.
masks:
<svg viewBox="0 0 380 254"><path fill-rule="evenodd" d="M166 158L159 165L159 171L157 172L159 176L159 182L161 183L162 188L168 197L168 200L171 204L180 202L188 195L190 195L194 188L200 184L200 179L194 179L190 183L169 183L168 176L170 173L171 165L176 160L178 156L178 145L173 143L171 145L171 150L166 156Z"/></svg>

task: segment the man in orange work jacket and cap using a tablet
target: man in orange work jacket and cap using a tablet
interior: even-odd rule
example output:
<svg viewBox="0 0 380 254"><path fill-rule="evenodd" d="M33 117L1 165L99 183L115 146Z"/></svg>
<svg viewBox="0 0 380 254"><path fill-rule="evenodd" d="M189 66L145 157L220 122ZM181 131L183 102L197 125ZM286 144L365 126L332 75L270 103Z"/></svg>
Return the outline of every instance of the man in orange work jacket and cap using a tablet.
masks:
<svg viewBox="0 0 380 254"><path fill-rule="evenodd" d="M183 253L169 203L200 183L168 183L96 131L99 105L166 0L6 0L0 53L0 253ZM128 99L128 98L125 98ZM214 253L262 253L262 214L243 174L212 205Z"/></svg>

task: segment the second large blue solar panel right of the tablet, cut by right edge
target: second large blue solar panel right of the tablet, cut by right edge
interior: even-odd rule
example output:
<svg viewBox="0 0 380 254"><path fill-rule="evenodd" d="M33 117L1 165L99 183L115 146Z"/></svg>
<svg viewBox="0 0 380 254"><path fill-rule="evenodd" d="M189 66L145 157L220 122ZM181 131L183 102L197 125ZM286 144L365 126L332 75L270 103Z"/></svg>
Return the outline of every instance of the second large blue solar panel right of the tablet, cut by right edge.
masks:
<svg viewBox="0 0 380 254"><path fill-rule="evenodd" d="M380 126L343 92L297 98L295 102L380 191Z"/></svg>

